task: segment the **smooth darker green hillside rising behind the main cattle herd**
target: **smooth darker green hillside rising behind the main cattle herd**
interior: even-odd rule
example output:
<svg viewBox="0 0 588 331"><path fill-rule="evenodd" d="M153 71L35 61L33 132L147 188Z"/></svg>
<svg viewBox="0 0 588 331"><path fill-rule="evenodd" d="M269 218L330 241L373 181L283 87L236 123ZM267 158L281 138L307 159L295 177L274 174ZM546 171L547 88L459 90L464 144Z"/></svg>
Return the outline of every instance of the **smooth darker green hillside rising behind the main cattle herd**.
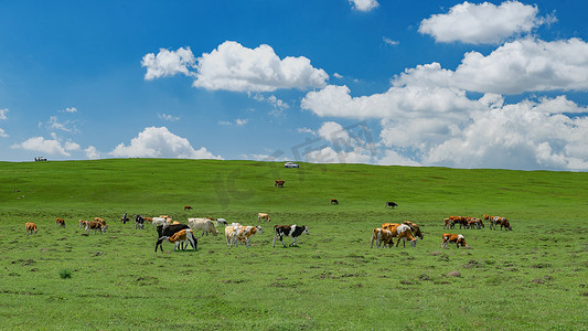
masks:
<svg viewBox="0 0 588 331"><path fill-rule="evenodd" d="M286 181L284 189L274 180ZM0 162L0 207L206 212L398 211L443 213L566 211L579 217L588 202L588 173L281 162L126 159ZM534 212L533 212L534 213Z"/></svg>

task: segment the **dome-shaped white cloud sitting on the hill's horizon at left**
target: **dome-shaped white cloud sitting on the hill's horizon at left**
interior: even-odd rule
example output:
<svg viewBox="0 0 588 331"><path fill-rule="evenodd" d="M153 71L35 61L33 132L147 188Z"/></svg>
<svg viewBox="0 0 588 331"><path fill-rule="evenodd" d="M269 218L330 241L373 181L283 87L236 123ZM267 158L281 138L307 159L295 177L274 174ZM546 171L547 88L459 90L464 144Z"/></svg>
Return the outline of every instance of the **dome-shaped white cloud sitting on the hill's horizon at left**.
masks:
<svg viewBox="0 0 588 331"><path fill-rule="evenodd" d="M179 137L165 127L149 127L131 139L130 145L118 145L110 153L124 158L177 158L177 159L222 159L206 148L192 148L190 141Z"/></svg>

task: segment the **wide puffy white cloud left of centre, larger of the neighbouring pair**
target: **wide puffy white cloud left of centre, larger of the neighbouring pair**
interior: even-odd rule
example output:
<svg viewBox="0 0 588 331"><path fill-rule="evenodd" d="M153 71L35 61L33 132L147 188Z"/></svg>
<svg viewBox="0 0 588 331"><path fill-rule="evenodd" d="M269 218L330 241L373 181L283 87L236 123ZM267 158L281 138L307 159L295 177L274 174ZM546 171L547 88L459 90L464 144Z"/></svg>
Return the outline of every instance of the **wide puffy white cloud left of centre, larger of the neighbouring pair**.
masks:
<svg viewBox="0 0 588 331"><path fill-rule="evenodd" d="M197 60L195 87L233 92L323 87L329 75L303 56L280 60L269 45L247 49L226 41Z"/></svg>

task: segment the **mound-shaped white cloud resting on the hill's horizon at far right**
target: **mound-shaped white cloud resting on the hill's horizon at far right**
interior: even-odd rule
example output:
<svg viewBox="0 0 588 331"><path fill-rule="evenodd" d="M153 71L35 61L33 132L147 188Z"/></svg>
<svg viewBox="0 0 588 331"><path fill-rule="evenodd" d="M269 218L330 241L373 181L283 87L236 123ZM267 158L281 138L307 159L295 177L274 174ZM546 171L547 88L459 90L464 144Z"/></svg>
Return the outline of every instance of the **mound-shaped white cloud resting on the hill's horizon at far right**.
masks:
<svg viewBox="0 0 588 331"><path fill-rule="evenodd" d="M427 164L466 168L588 169L588 109L559 97L524 100L472 116L469 125L431 146Z"/></svg>

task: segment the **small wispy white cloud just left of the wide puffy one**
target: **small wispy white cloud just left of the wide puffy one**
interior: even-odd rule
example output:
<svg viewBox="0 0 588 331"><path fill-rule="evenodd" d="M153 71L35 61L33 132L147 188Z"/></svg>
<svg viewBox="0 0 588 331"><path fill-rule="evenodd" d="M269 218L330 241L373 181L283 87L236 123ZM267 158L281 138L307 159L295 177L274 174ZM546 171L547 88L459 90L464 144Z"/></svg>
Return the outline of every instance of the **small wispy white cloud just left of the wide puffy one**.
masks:
<svg viewBox="0 0 588 331"><path fill-rule="evenodd" d="M141 66L147 67L145 79L151 81L177 74L190 76L190 68L194 67L195 61L190 47L180 47L178 51L159 49L157 55L153 53L145 55L141 61Z"/></svg>

